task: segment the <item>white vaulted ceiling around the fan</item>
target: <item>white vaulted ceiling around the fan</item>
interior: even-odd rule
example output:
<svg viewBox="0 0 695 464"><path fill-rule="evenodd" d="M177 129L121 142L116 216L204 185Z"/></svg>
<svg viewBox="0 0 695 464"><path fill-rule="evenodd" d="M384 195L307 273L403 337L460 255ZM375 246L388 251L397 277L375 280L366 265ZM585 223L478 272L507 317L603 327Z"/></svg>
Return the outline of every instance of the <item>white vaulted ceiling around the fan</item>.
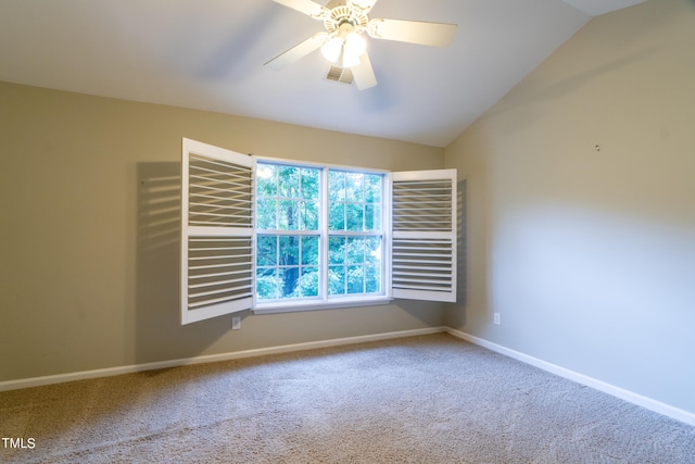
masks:
<svg viewBox="0 0 695 464"><path fill-rule="evenodd" d="M370 17L458 30L368 39L379 85L358 91L318 51L263 65L323 30L271 0L0 0L0 80L444 147L592 16L642 1L379 0Z"/></svg>

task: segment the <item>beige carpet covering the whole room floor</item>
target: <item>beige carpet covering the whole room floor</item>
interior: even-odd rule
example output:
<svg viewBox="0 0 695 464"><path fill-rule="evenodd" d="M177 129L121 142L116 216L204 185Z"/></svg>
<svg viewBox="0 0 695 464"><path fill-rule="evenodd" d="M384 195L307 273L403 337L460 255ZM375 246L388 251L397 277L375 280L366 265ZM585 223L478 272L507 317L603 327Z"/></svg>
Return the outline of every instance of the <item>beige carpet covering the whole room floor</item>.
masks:
<svg viewBox="0 0 695 464"><path fill-rule="evenodd" d="M695 427L447 335L0 393L2 463L695 463Z"/></svg>

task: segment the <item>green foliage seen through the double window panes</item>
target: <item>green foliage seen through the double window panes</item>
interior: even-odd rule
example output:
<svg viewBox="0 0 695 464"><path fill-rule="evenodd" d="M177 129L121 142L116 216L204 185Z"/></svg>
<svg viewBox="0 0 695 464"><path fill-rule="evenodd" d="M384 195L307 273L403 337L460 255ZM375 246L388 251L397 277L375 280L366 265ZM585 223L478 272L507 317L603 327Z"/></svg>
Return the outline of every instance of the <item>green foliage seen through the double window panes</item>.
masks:
<svg viewBox="0 0 695 464"><path fill-rule="evenodd" d="M258 163L256 292L261 300L319 294L320 173L314 167ZM329 171L329 230L380 231L381 185L380 175ZM302 235L278 234L281 230ZM379 237L331 236L329 294L380 292L380 247Z"/></svg>

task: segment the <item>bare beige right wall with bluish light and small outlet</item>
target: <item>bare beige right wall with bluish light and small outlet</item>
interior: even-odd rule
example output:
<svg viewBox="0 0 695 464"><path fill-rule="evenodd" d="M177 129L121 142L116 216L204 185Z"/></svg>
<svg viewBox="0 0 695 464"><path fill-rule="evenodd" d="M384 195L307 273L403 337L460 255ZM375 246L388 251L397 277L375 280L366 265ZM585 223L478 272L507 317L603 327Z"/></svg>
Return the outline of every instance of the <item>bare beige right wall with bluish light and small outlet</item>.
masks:
<svg viewBox="0 0 695 464"><path fill-rule="evenodd" d="M596 17L447 148L447 325L695 413L694 45L690 0Z"/></svg>

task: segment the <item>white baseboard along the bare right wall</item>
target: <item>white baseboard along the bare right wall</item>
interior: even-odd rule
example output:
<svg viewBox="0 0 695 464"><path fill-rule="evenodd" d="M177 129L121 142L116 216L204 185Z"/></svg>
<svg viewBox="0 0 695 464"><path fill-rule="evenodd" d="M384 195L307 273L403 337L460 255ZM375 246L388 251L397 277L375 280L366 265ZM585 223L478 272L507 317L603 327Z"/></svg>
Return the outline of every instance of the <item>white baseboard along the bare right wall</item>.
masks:
<svg viewBox="0 0 695 464"><path fill-rule="evenodd" d="M589 377L583 374L579 374L574 371L567 369L565 367L560 367L558 365L548 363L543 360L539 360L538 358L530 356L528 354L523 354L519 351L511 350L509 348L505 348L501 344L493 343L491 341L484 340L482 338L473 337L472 335L466 334L460 330L455 330L453 328L446 327L444 329L447 334L453 335L456 338L460 338L466 341L470 341L471 343L478 344L480 347L486 348L489 350L495 351L500 354L504 354L505 356L513 358L517 361L521 361L522 363L530 364L532 366L539 367L543 371L549 372L552 374L558 375L560 377L567 378L569 380L576 381L578 384L585 385L587 387L594 388L598 391L603 391L604 393L611 394L614 397L620 398L621 400L628 401L630 403L636 404L639 406L645 407L649 411L654 411L656 413L662 414L665 416L674 418L677 421L683 422L688 425L695 426L695 414L671 406L669 404L662 403L660 401L653 400L647 397L643 397L641 394L634 393L632 391L622 389L620 387L616 387L610 384L606 384L605 381L597 380L593 377Z"/></svg>

